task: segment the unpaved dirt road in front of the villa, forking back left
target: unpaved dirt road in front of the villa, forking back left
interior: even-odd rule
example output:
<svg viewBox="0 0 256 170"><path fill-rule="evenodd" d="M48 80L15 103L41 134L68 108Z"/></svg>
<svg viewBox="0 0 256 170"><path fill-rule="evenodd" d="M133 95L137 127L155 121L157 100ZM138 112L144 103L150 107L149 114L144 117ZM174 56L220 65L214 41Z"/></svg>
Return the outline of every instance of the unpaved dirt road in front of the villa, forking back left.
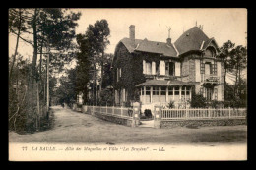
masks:
<svg viewBox="0 0 256 170"><path fill-rule="evenodd" d="M131 128L106 122L88 114L54 110L54 127L34 134L9 133L9 142L17 143L92 143L105 144L246 144L247 126L186 127L173 129Z"/></svg>

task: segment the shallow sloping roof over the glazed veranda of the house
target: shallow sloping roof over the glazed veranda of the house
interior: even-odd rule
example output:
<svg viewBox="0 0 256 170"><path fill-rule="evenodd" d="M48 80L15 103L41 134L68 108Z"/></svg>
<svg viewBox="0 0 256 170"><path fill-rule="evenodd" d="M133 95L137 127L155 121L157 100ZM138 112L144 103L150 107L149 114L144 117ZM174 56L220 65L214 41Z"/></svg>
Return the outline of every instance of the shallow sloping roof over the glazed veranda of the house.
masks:
<svg viewBox="0 0 256 170"><path fill-rule="evenodd" d="M182 82L178 80L147 80L146 82L142 84L138 84L136 86L174 86L174 85L194 85L190 82Z"/></svg>

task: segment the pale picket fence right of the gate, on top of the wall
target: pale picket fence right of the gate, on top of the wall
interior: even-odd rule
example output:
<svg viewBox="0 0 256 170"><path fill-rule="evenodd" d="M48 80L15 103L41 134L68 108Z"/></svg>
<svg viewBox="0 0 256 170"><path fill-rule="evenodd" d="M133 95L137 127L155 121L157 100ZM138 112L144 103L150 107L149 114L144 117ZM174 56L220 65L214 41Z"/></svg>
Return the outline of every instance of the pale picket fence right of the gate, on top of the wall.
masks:
<svg viewBox="0 0 256 170"><path fill-rule="evenodd" d="M161 109L162 120L180 119L246 119L245 108L187 108L187 109Z"/></svg>

